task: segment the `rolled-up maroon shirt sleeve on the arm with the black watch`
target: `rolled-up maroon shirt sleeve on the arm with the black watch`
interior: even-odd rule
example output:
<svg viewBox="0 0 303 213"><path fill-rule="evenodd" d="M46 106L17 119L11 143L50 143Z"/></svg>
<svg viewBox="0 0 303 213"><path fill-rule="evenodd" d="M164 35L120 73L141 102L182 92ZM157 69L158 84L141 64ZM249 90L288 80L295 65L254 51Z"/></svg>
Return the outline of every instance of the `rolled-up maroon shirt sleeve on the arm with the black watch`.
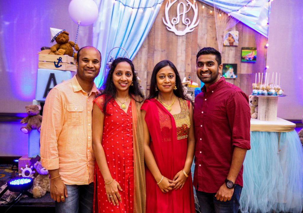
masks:
<svg viewBox="0 0 303 213"><path fill-rule="evenodd" d="M248 97L238 91L227 101L227 116L232 132L232 145L242 149L250 149L250 108Z"/></svg>

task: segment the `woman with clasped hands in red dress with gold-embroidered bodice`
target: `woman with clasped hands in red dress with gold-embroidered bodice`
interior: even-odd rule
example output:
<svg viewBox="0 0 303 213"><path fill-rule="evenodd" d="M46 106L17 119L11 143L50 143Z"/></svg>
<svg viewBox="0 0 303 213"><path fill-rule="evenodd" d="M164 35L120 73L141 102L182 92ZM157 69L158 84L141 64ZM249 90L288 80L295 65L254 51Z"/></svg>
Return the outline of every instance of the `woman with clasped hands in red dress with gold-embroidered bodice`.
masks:
<svg viewBox="0 0 303 213"><path fill-rule="evenodd" d="M155 66L149 91L141 107L146 213L194 213L193 108L174 64L164 60Z"/></svg>

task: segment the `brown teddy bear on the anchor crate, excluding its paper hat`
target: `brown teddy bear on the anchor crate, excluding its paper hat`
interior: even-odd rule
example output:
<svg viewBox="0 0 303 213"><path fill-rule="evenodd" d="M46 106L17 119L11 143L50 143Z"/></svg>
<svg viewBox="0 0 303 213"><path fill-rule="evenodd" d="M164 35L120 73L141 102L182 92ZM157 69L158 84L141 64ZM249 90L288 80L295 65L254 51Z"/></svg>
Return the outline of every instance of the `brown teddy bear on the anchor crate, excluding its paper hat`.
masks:
<svg viewBox="0 0 303 213"><path fill-rule="evenodd" d="M78 51L78 44L75 45L75 42L69 41L68 32L62 31L58 36L56 36L55 41L57 42L55 45L51 47L51 51L49 54L51 55L68 55L73 57L73 47ZM62 50L65 50L63 52ZM63 52L63 53L62 53ZM74 53L74 58L77 58L77 53Z"/></svg>

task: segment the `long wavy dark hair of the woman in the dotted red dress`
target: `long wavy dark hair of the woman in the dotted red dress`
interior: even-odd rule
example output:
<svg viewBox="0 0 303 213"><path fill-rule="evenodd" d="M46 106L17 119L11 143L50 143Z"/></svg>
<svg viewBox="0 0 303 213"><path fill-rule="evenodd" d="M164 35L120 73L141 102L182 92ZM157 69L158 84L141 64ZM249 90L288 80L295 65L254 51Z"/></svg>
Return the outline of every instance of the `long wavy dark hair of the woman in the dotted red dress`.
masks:
<svg viewBox="0 0 303 213"><path fill-rule="evenodd" d="M115 85L113 83L113 73L114 73L114 70L115 70L116 66L120 62L127 62L132 68L132 75L133 75L133 79L132 79L133 82L132 83L133 83L133 86L129 87L128 94L130 96L132 95L132 97L135 99L135 101L140 102L140 103L144 99L144 96L143 96L142 91L141 91L140 86L139 86L137 74L135 73L135 67L134 67L134 64L132 63L132 61L129 60L128 58L122 58L122 57L116 58L112 62L111 68L108 71L106 80L103 84L104 89L100 90L101 93L98 94L98 96L100 96L102 94L105 94L105 101L104 101L104 106L103 106L103 112L105 112L104 113L105 115L108 115L108 113L106 112L106 105L108 104L108 102L112 98L115 99L115 97L117 96L117 89L115 88ZM138 96L141 97L141 98L138 98Z"/></svg>

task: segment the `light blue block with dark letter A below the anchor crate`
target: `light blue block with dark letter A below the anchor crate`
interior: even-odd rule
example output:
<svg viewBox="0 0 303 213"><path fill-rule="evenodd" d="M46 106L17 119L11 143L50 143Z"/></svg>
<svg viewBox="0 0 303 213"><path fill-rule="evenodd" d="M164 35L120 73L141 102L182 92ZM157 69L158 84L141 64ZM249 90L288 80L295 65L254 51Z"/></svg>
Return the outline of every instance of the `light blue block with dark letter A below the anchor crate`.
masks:
<svg viewBox="0 0 303 213"><path fill-rule="evenodd" d="M72 71L38 69L35 99L37 101L45 101L48 92L52 88L72 77Z"/></svg>

